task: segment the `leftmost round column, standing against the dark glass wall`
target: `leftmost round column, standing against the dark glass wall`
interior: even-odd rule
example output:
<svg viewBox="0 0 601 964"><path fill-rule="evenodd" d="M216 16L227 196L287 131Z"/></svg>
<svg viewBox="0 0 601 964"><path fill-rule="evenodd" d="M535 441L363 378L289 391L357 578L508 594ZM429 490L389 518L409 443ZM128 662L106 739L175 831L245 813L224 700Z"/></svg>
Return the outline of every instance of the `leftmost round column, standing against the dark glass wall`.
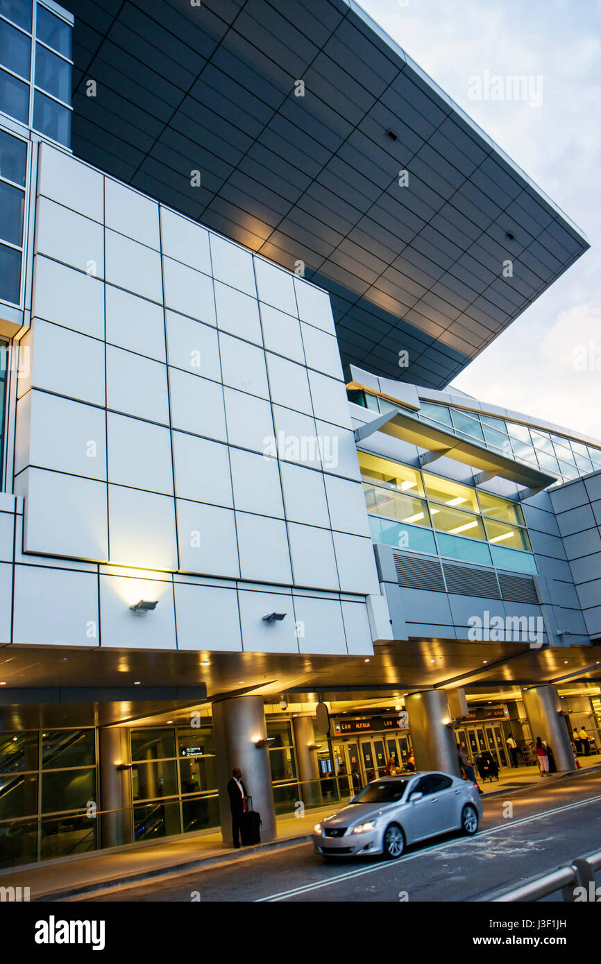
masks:
<svg viewBox="0 0 601 964"><path fill-rule="evenodd" d="M119 769L130 763L129 730L106 727L98 730L100 781L100 832L102 846L121 846L133 842L133 812L131 810L131 772Z"/></svg>

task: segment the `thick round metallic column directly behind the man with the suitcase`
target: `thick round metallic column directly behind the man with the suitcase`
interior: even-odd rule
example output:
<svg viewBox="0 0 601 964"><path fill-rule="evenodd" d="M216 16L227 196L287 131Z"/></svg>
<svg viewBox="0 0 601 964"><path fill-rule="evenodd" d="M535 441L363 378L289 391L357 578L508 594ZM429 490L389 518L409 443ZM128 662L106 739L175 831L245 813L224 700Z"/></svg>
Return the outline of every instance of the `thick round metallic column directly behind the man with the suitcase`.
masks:
<svg viewBox="0 0 601 964"><path fill-rule="evenodd" d="M225 844L232 844L228 783L236 766L242 770L244 786L253 797L253 808L260 813L261 841L275 840L276 813L269 752L266 746L259 748L256 745L257 740L267 738L262 697L234 696L219 700L213 703L212 711L223 841Z"/></svg>

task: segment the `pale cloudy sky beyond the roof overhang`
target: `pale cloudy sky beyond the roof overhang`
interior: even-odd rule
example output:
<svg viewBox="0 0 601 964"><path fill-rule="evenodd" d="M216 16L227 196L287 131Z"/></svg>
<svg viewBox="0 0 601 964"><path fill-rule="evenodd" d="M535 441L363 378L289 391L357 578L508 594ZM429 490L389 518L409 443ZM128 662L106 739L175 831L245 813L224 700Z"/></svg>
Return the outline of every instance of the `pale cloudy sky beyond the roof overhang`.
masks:
<svg viewBox="0 0 601 964"><path fill-rule="evenodd" d="M360 0L587 235L584 254L453 385L601 440L601 0ZM470 77L542 78L539 106Z"/></svg>

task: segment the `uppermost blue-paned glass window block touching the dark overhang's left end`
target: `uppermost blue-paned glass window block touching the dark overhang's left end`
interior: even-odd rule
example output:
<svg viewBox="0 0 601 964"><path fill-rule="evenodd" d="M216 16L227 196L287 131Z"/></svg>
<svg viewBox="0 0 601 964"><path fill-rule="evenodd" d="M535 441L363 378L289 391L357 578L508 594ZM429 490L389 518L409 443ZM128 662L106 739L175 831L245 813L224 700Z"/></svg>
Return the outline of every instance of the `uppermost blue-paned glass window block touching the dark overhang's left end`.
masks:
<svg viewBox="0 0 601 964"><path fill-rule="evenodd" d="M71 27L31 0L0 0L0 110L70 146Z"/></svg>

